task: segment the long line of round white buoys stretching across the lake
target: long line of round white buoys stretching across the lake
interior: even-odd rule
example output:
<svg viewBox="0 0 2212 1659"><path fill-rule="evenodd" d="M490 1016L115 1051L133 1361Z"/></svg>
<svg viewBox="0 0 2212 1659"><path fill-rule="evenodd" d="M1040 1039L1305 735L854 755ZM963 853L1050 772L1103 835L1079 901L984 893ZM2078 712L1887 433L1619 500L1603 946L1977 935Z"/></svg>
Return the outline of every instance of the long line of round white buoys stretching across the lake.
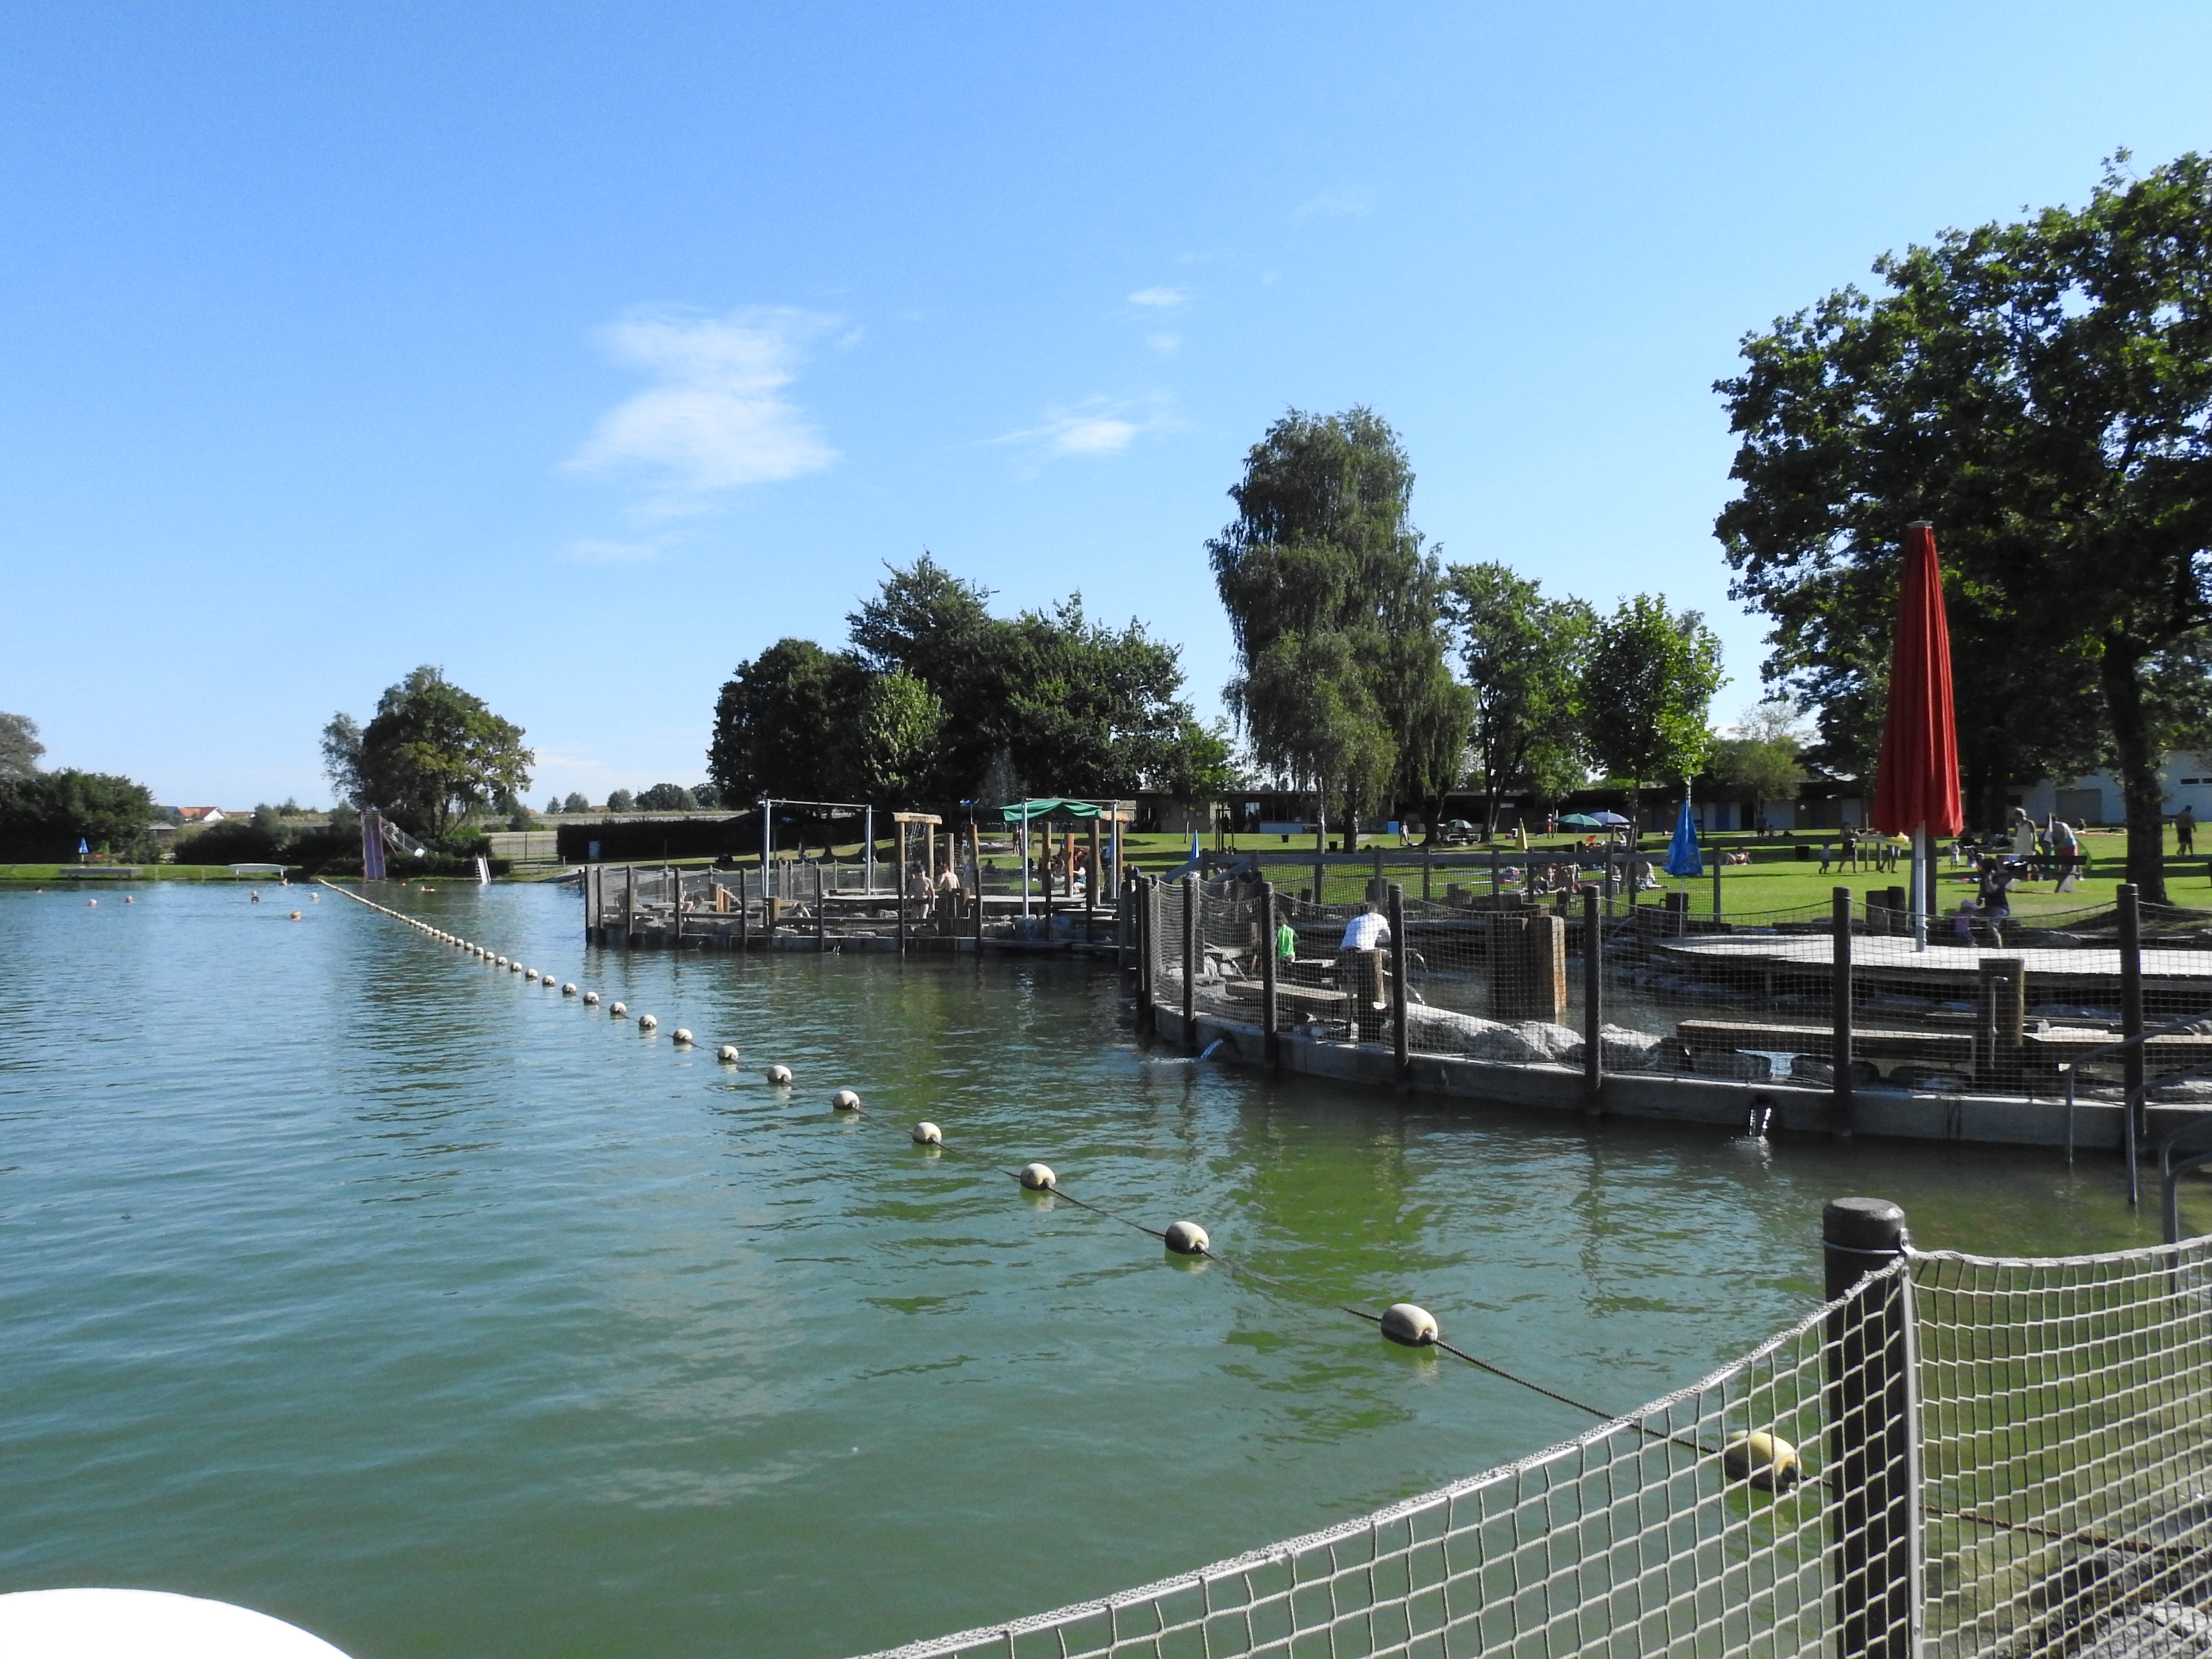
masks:
<svg viewBox="0 0 2212 1659"><path fill-rule="evenodd" d="M473 945L471 940L462 940L462 938L451 936L451 933L442 933L440 929L431 927L429 922L422 922L422 920L418 920L414 916L407 916L405 911L396 911L396 909L389 909L385 905L378 905L378 902L374 902L369 898L363 898L361 894L347 891L345 887L334 887L332 883L323 880L321 876L316 880L321 885L330 887L336 894L345 894L345 898L352 898L356 905L367 905L369 909L378 911L380 916L389 916L389 918L394 918L398 922L405 922L407 927L414 927L416 931L427 933L429 938L436 938L436 940L447 942L447 945L456 945L462 951L469 951L469 953L478 956L487 964L502 967L502 969L509 969L513 973L526 973L529 975L526 982L542 982L544 989L549 989L549 991L557 982L557 975L553 975L553 973L540 975L538 969L524 969L522 958L504 958L504 956L495 958L487 947ZM564 984L562 993L564 995L575 995L575 987L573 984ZM586 991L582 995L582 1006L597 1006L597 1002L599 1002L599 993L597 991ZM608 1013L613 1018L622 1020L622 1018L628 1015L628 1009L622 1002L613 1002L613 1004L608 1004ZM659 1020L655 1015L650 1015L650 1013L637 1015L637 1029L644 1035L653 1035L657 1031L657 1026L659 1026ZM684 1026L677 1026L675 1033L672 1033L672 1037L675 1037L672 1046L677 1051L688 1051L688 1048L699 1046L697 1037L688 1029L684 1029ZM737 1064L737 1060L739 1060L739 1046L732 1044L732 1042L719 1044L714 1057L723 1066ZM772 1088L790 1088L792 1086L792 1071L790 1071L790 1066L781 1066L781 1064L765 1066L761 1075L768 1079L768 1084ZM832 1099L830 1099L830 1108L838 1117L867 1117L867 1119L874 1119L874 1113L869 1113L869 1110L863 1108L860 1095L854 1093L852 1088L838 1088L832 1095ZM945 1139L945 1130L940 1130L931 1121L916 1124L909 1130L909 1139L916 1146L927 1146L931 1150L953 1152L956 1157L984 1157L984 1155L978 1155L978 1152L969 1152L969 1148L964 1148L964 1146L960 1146L956 1141L947 1141ZM1790 1486L1796 1486L1801 1480L1809 1482L1809 1484L1827 1484L1827 1473L1829 1471L1820 1471L1816 1475L1805 1475L1803 1467L1798 1462L1796 1447L1792 1447L1787 1440L1783 1440L1781 1436L1774 1436L1770 1431L1741 1433L1734 1440L1730 1440L1725 1447L1705 1447L1705 1444L1701 1444L1697 1440L1686 1440L1679 1433L1668 1433L1663 1429L1652 1429L1650 1425L1639 1422L1632 1416L1621 1416L1617 1411L1606 1411L1604 1407L1595 1407L1588 1400L1577 1400L1571 1394L1562 1394L1559 1389L1546 1387L1544 1383L1537 1383L1537 1380L1526 1378L1526 1376L1517 1376L1515 1371L1509 1371L1502 1365L1484 1360L1478 1354L1469 1354L1467 1349L1458 1347L1455 1343L1447 1343L1444 1334L1442 1334L1442 1327L1438 1325L1436 1316L1429 1310L1418 1307L1416 1303L1391 1303L1380 1314L1369 1314L1365 1307L1356 1307L1352 1303L1340 1303L1334 1296L1305 1290L1303 1285L1292 1285L1292 1283L1287 1283L1283 1279L1276 1279L1274 1274L1261 1272L1259 1267L1248 1267L1245 1263L1241 1263L1241 1261L1237 1261L1232 1256L1223 1256L1221 1252L1217 1252L1212 1248L1212 1239L1206 1234L1206 1228L1201 1228L1194 1221L1172 1221L1168 1228L1150 1228L1144 1221L1137 1221L1135 1217L1121 1214L1119 1210L1110 1210L1110 1208L1106 1208L1102 1203L1091 1203L1088 1199L1079 1199L1073 1192L1068 1192L1064 1186L1060 1186L1060 1177L1053 1172L1053 1168L1048 1164L1024 1164L1020 1170L1004 1170L1002 1168L998 1172L1004 1175L1006 1179L1015 1181L1026 1192L1048 1192L1055 1199L1066 1199L1077 1210L1088 1210L1091 1214L1104 1217L1106 1221L1119 1221L1124 1228L1133 1228L1135 1232L1141 1232L1148 1239L1159 1239L1172 1254L1194 1256L1194 1259L1221 1263L1223 1272L1230 1272L1230 1274L1234 1274L1239 1279L1250 1279L1254 1285L1261 1285L1263 1290L1270 1290L1276 1296L1285 1296L1290 1301L1301 1301L1301 1303L1305 1303L1310 1307L1327 1307L1332 1312L1349 1314L1352 1318L1365 1321L1365 1323L1374 1325L1387 1340L1398 1343L1400 1347L1433 1347L1433 1349L1440 1349L1444 1354L1451 1354L1455 1360L1462 1360L1462 1363L1475 1367L1478 1371L1486 1371L1489 1376L1495 1376L1495 1378L1500 1378L1504 1383L1513 1383L1515 1387L1524 1387L1531 1394L1542 1394L1546 1400L1555 1400L1555 1402L1559 1402L1564 1407L1571 1407L1575 1411L1584 1411L1584 1413L1597 1418L1599 1422L1619 1422L1619 1425L1630 1427L1637 1433L1644 1433L1644 1436L1648 1436L1652 1440L1661 1440L1666 1444L1681 1447L1686 1451L1697 1451L1703 1458L1719 1458L1732 1480L1743 1480L1743 1482L1747 1482L1747 1484L1752 1484L1752 1486L1756 1486L1761 1491L1772 1491L1772 1493L1787 1491Z"/></svg>

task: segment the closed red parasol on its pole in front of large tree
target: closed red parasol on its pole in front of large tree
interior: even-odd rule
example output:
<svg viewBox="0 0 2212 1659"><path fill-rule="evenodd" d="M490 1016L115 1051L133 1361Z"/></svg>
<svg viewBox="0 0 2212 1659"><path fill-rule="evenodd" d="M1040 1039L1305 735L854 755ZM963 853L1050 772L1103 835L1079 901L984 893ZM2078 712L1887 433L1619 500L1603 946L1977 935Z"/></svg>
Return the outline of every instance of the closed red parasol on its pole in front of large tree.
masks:
<svg viewBox="0 0 2212 1659"><path fill-rule="evenodd" d="M1889 714L1874 774L1874 827L1913 838L1913 933L1927 942L1929 836L1966 827L1958 796L1958 721L1951 714L1951 624L1942 613L1936 529L1905 533L1898 633L1889 646Z"/></svg>

